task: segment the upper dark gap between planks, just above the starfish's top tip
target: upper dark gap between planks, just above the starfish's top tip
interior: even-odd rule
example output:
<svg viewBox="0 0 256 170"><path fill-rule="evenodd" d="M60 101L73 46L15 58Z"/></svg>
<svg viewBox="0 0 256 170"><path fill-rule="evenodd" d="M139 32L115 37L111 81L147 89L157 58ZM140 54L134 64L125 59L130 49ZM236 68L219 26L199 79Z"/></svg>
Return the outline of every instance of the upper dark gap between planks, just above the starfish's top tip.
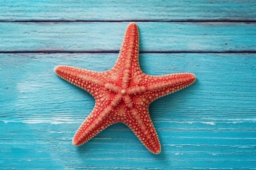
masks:
<svg viewBox="0 0 256 170"><path fill-rule="evenodd" d="M0 22L245 22L254 23L256 20L0 20Z"/></svg>

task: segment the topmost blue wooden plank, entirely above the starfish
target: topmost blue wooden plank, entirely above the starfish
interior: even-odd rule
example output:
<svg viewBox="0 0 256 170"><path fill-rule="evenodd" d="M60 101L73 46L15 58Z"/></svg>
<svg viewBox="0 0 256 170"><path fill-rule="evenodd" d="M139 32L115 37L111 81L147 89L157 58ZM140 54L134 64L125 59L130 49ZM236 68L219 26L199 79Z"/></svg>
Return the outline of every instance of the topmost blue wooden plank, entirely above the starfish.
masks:
<svg viewBox="0 0 256 170"><path fill-rule="evenodd" d="M0 20L255 20L255 0L2 0Z"/></svg>

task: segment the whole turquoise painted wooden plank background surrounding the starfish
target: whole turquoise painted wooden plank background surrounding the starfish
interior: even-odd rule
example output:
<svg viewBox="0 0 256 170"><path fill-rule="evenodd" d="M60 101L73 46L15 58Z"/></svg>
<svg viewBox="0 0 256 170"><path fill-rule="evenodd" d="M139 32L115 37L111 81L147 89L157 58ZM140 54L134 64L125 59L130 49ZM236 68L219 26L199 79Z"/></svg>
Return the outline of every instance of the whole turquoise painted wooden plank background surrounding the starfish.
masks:
<svg viewBox="0 0 256 170"><path fill-rule="evenodd" d="M0 0L0 169L255 170L255 7L255 0ZM150 104L159 155L124 124L75 147L94 99L54 67L110 69L131 21L144 73L191 72L197 81Z"/></svg>

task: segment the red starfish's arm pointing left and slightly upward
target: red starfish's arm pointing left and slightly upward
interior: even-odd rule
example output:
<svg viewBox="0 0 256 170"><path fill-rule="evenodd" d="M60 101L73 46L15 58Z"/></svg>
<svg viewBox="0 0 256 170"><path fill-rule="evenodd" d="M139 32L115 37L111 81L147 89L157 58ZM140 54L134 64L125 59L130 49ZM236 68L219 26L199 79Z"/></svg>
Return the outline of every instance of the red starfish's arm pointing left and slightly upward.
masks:
<svg viewBox="0 0 256 170"><path fill-rule="evenodd" d="M104 76L105 72L90 71L83 68L73 66L56 66L54 68L55 73L65 79L66 81L74 84L95 97L94 91L97 88L104 88Z"/></svg>

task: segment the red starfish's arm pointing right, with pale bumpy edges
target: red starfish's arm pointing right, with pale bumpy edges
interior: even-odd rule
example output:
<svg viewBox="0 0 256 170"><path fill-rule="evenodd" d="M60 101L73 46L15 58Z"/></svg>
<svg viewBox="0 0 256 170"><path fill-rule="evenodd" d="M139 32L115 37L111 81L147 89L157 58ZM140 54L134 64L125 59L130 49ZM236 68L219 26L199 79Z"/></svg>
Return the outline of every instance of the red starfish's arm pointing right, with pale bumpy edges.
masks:
<svg viewBox="0 0 256 170"><path fill-rule="evenodd" d="M174 93L186 88L195 82L192 73L175 73L169 75L151 76L147 75L144 84L147 84L147 94L151 96L150 103L159 97Z"/></svg>

